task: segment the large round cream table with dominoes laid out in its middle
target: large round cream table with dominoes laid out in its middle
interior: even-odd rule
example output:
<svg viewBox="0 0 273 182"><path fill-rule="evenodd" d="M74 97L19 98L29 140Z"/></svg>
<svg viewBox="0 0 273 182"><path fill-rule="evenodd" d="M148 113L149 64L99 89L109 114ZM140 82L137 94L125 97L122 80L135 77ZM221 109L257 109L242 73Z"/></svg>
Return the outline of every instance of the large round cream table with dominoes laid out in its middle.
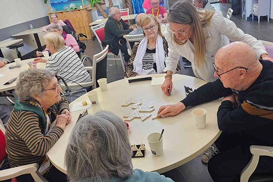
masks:
<svg viewBox="0 0 273 182"><path fill-rule="evenodd" d="M149 76L164 77L164 75L165 74L155 74ZM129 98L140 98L142 100L142 106L154 106L155 110L151 112L151 115L156 115L160 106L175 104L186 97L184 86L195 90L206 82L191 76L176 74L173 77L173 83L174 91L171 96L167 96L161 91L161 85L151 86L151 81L129 84L128 79L123 79L109 83L108 90L106 91L100 91L99 88L96 89L96 91L98 91L99 104L88 109L88 113L94 114L99 110L109 110L123 117L132 111L130 105L122 107L124 101ZM77 98L74 102L88 100L87 94ZM220 103L221 100L216 100L191 107L172 117L153 120L149 117L144 121L141 121L140 118L135 118L128 121L130 126L128 136L131 144L144 143L147 149L144 158L132 159L133 167L144 171L163 173L196 158L221 134L217 124L217 110ZM207 111L206 127L204 129L198 129L195 126L191 114L192 110L198 107L204 108ZM64 156L68 139L78 115L82 112L83 110L72 112L71 123L66 126L64 134L47 153L53 165L64 173L66 173ZM150 152L147 137L153 132L160 133L163 128L165 130L163 134L164 153L159 157L155 157L152 156Z"/></svg>

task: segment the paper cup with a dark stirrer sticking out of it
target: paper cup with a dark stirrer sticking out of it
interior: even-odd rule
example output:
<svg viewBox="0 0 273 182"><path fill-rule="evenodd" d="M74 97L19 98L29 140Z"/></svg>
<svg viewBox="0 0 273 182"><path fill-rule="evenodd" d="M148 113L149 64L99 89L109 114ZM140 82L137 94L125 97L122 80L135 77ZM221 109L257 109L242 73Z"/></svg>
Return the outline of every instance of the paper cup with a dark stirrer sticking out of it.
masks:
<svg viewBox="0 0 273 182"><path fill-rule="evenodd" d="M159 140L160 135L160 133L152 133L147 137L151 154L154 156L161 156L163 153L163 136Z"/></svg>

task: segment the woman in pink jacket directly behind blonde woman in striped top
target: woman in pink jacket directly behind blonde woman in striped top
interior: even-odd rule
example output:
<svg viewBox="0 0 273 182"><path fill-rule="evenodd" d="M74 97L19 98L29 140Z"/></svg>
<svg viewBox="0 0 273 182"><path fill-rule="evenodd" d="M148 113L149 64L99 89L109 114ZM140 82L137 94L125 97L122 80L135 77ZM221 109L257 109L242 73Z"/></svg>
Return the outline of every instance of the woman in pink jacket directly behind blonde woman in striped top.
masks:
<svg viewBox="0 0 273 182"><path fill-rule="evenodd" d="M65 31L63 31L63 27L61 27L60 25L57 25L57 24L51 25L50 32L56 32L56 33L60 34L61 36L63 36L66 46L70 46L71 48L73 48L73 50L75 52L79 51L79 45L78 45L76 39L73 37L73 35L68 34ZM44 51L50 51L50 50L48 48L45 48L45 50L43 50L43 52ZM40 57L40 56L43 56L43 53L36 51L36 55L37 55L37 57Z"/></svg>

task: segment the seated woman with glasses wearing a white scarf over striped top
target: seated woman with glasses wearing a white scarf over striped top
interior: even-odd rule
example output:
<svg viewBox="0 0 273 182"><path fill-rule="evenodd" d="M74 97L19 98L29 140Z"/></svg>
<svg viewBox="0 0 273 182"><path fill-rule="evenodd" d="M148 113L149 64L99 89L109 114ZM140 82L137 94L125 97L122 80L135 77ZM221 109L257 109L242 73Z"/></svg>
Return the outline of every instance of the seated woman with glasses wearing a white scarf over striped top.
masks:
<svg viewBox="0 0 273 182"><path fill-rule="evenodd" d="M152 15L143 15L140 20L144 39L133 46L124 76L132 77L163 72L168 57L168 43L161 33L160 24ZM179 73L178 62L175 73Z"/></svg>

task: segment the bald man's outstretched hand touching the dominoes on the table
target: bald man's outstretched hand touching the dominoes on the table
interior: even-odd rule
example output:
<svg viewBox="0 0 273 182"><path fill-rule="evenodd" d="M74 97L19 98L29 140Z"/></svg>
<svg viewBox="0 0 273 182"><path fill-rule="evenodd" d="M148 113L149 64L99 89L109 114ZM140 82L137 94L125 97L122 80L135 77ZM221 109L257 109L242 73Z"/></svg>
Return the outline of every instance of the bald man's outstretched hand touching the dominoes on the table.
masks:
<svg viewBox="0 0 273 182"><path fill-rule="evenodd" d="M182 102L177 104L161 106L157 111L157 117L168 117L171 115L176 115L186 109L185 105Z"/></svg>

